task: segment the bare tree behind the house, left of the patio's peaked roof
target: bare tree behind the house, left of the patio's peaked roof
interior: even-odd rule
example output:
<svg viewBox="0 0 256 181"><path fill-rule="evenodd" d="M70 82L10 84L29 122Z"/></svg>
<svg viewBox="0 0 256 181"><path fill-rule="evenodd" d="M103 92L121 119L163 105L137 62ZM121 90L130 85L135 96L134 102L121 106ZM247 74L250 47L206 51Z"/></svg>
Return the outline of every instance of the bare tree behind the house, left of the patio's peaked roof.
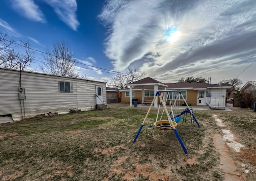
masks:
<svg viewBox="0 0 256 181"><path fill-rule="evenodd" d="M118 72L110 79L104 79L108 86L116 89L127 89L128 84L140 80L146 76L146 72L138 72L137 68L128 68L125 74Z"/></svg>

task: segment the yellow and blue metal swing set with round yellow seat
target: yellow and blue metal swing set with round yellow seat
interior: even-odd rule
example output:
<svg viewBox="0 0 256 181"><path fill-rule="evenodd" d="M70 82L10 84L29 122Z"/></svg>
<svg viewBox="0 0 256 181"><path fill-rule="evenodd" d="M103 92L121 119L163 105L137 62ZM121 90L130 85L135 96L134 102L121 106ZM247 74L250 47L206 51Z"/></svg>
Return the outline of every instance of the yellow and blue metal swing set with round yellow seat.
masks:
<svg viewBox="0 0 256 181"><path fill-rule="evenodd" d="M176 96L176 99L175 99L175 101L173 103L174 106L176 105L176 102L178 101L179 97L182 97L184 103L186 104L186 106L188 108L185 109L185 111L182 111L182 113L180 113L178 115L174 115L174 112L173 112L174 106L172 106L172 103L170 102L171 110L170 110L170 112L168 112L167 107L166 107L166 102L167 102L168 96L170 97L169 92L177 92L178 93L177 96ZM165 101L164 101L165 98L164 98L164 94L163 93L167 93L167 97L166 97ZM150 114L150 111L151 111L151 109L152 109L152 107L154 105L154 101L155 101L156 97L158 97L160 99L160 103L159 103L159 107L158 107L158 112L157 112L157 117L156 117L156 122L154 123L154 126L152 126L152 125L145 125L144 123L146 122L146 119L148 118L148 115ZM159 111L160 111L161 103L162 103L162 106L164 108L163 109L163 113L165 112L166 115L167 115L167 120L157 120L158 119L158 115L159 115ZM198 127L200 127L196 117L194 116L194 114L192 112L191 107L188 106L188 103L186 102L186 100L185 100L184 96L182 95L181 91L176 91L176 90L158 90L158 91L156 91L156 95L154 96L154 99L152 100L152 103L151 103L151 105L150 105L150 107L148 109L148 112L147 112L147 114L146 114L146 116L144 118L144 121L142 122L142 125L140 125L140 128L139 128L139 130L138 130L138 132L137 132L137 134L136 134L136 136L135 136L133 141L134 142L136 141L136 139L138 138L138 135L140 134L140 131L142 130L142 128L144 126L146 126L146 127L156 127L158 129L162 129L162 130L171 129L171 130L174 131L176 137L178 138L184 153L188 154L188 151L187 151L185 145L183 144L182 139L180 138L180 135L179 135L179 133L178 133L178 131L176 129L176 127L178 125L177 124L178 121L177 122L175 121L175 119L181 119L182 114L188 113L188 111L190 112L190 115L193 117L193 121L195 121L196 124L198 125ZM162 115L163 115L163 113L162 113ZM160 119L162 119L162 115L161 115Z"/></svg>

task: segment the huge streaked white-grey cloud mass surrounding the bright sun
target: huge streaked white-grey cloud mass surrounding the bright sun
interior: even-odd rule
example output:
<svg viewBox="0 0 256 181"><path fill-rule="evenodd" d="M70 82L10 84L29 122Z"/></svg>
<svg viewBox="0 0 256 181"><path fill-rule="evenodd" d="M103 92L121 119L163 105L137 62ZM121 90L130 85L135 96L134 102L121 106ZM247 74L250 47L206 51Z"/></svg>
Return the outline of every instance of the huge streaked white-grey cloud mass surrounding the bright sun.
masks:
<svg viewBox="0 0 256 181"><path fill-rule="evenodd" d="M255 0L106 0L98 19L108 28L105 54L114 70L135 66L177 79L215 74L230 67L225 62L249 64L255 8Z"/></svg>

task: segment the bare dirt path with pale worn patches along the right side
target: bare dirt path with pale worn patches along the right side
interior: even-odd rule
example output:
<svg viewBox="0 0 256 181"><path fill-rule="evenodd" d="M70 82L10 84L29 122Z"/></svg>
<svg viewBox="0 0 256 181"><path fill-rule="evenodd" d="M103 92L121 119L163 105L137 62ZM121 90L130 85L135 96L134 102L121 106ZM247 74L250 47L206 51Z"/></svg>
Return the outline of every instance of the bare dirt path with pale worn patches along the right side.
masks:
<svg viewBox="0 0 256 181"><path fill-rule="evenodd" d="M217 115L212 115L212 117L215 118L216 124L220 128L224 128L225 127L224 123L222 122L221 119L218 119ZM225 133L225 131L229 132L229 130L222 129L223 133ZM228 135L224 135L223 137L220 134L215 134L213 136L214 146L216 147L218 153L220 154L220 163L221 163L220 167L221 167L221 169L222 169L222 171L224 173L224 178L225 178L224 180L225 181L243 181L244 179L240 175L240 173L238 171L238 168L236 167L232 157L230 157L228 155L228 148L227 148L227 144L225 142L225 141L228 141L229 143L230 142L231 143L234 142L235 143L234 146L233 147L231 146L231 147L236 152L239 152L240 151L240 147L243 147L243 145L233 141L233 137L234 136L232 135L232 133L229 133Z"/></svg>

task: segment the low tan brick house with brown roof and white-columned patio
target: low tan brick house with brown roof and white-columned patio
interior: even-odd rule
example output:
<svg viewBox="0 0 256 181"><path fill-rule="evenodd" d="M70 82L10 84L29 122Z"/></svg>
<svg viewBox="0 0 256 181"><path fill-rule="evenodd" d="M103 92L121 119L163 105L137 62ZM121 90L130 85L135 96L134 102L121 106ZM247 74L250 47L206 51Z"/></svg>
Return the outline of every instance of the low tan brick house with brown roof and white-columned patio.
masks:
<svg viewBox="0 0 256 181"><path fill-rule="evenodd" d="M207 84L199 82L180 82L164 84L150 77L132 82L129 84L130 89L121 90L122 102L130 103L132 106L132 99L138 99L138 103L151 103L157 90L170 90L171 98L176 98L175 92L171 90L181 91L187 103L191 105L208 105L210 97L226 97L226 89L231 86L221 86L219 84ZM132 95L132 97L130 97ZM182 97L179 97L182 103ZM155 107L157 107L159 100L155 100Z"/></svg>

